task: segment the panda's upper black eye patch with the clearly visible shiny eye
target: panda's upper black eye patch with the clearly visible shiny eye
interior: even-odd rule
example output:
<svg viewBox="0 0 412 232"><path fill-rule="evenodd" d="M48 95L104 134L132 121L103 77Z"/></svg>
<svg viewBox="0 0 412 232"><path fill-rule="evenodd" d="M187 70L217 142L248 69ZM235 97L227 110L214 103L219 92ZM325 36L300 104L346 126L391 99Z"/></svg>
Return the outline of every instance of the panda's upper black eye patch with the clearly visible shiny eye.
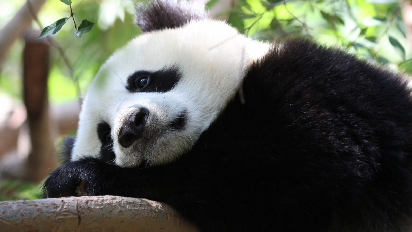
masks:
<svg viewBox="0 0 412 232"><path fill-rule="evenodd" d="M126 89L130 92L166 92L180 79L176 66L165 67L159 71L136 71L127 78Z"/></svg>

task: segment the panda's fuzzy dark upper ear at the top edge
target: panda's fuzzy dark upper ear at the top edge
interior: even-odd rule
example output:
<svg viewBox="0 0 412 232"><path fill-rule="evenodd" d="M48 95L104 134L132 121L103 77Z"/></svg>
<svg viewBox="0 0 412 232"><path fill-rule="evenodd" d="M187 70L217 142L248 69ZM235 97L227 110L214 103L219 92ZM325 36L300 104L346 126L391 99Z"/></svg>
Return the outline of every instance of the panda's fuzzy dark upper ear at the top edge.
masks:
<svg viewBox="0 0 412 232"><path fill-rule="evenodd" d="M206 18L204 6L187 0L151 0L136 4L136 24L143 32L176 28Z"/></svg>

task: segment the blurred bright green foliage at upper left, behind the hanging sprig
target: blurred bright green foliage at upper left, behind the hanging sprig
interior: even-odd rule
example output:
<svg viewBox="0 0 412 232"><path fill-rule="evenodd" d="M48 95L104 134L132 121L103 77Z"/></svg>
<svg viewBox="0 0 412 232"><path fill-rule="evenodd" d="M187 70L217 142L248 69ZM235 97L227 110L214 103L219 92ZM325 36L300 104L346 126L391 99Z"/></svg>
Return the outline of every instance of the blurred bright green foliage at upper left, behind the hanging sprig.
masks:
<svg viewBox="0 0 412 232"><path fill-rule="evenodd" d="M0 27L4 26L24 3L24 0L0 1ZM49 98L54 104L77 99L74 81L80 85L81 95L84 95L87 85L110 54L141 32L140 28L133 24L132 0L81 0L74 1L72 7L76 22L89 19L97 23L93 30L82 38L77 38L74 33L76 29L70 24L54 35L74 70L71 77L61 54L52 48L48 84ZM70 8L59 0L46 1L38 14L44 25L68 16ZM35 22L32 25L39 31L44 27ZM12 46L0 70L0 93L5 92L17 99L21 99L23 43L19 40Z"/></svg>

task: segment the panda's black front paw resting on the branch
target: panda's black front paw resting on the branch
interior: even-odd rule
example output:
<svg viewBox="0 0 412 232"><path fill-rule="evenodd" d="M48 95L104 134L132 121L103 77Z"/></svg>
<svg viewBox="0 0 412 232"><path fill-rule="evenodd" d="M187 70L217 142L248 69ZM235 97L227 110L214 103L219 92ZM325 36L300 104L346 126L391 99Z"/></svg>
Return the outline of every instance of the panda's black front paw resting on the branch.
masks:
<svg viewBox="0 0 412 232"><path fill-rule="evenodd" d="M98 195L94 186L98 185L98 164L93 159L83 159L66 163L52 173L43 185L45 198L65 196Z"/></svg>

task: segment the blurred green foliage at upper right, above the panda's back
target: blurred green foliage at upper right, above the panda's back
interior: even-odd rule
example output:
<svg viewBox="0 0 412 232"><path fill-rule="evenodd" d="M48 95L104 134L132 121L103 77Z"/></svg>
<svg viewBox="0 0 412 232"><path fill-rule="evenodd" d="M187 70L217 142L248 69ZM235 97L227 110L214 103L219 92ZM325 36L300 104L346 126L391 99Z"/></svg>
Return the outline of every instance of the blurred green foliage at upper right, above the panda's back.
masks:
<svg viewBox="0 0 412 232"><path fill-rule="evenodd" d="M412 55L402 5L398 0L239 0L229 21L258 40L310 36L379 63L400 64Z"/></svg>

